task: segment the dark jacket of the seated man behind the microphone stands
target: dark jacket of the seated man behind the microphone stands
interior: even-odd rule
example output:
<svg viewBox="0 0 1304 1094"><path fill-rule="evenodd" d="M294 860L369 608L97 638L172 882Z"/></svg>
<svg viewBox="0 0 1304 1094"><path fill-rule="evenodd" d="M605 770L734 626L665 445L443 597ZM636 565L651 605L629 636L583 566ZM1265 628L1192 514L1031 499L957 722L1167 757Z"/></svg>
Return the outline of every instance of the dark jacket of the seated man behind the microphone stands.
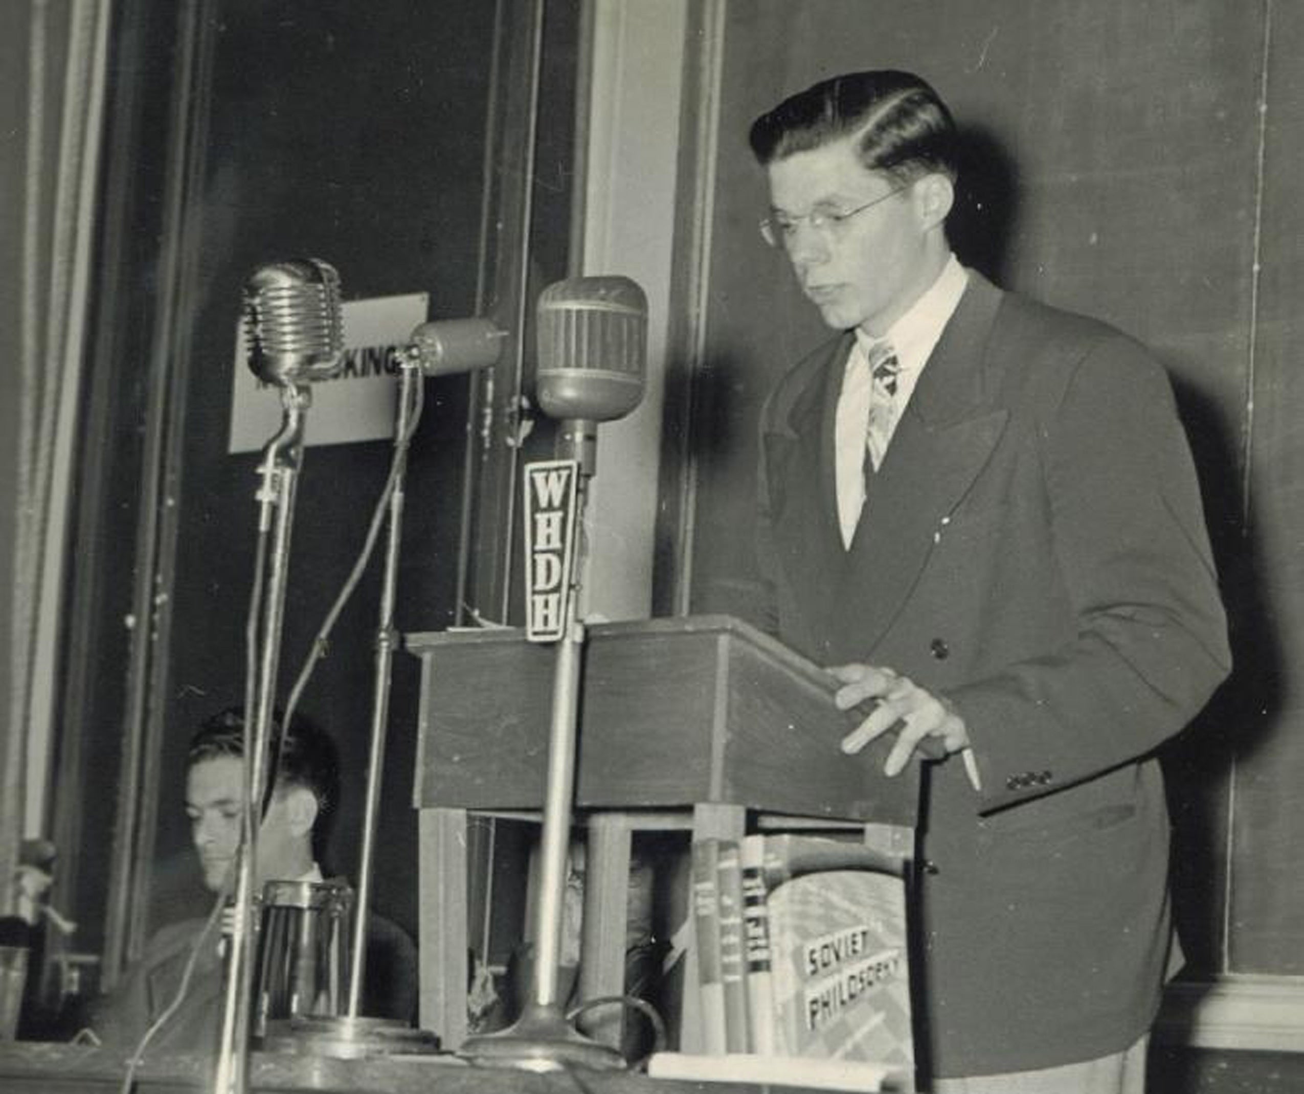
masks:
<svg viewBox="0 0 1304 1094"><path fill-rule="evenodd" d="M132 1051L176 998L203 919L170 923L155 934L117 988L96 1007L91 1029L104 1044ZM155 1034L147 1056L215 1054L222 1035L223 977L218 935L201 949L184 1003ZM374 913L366 921L366 983L361 1011L381 1018L416 1020L416 945L396 923Z"/></svg>

